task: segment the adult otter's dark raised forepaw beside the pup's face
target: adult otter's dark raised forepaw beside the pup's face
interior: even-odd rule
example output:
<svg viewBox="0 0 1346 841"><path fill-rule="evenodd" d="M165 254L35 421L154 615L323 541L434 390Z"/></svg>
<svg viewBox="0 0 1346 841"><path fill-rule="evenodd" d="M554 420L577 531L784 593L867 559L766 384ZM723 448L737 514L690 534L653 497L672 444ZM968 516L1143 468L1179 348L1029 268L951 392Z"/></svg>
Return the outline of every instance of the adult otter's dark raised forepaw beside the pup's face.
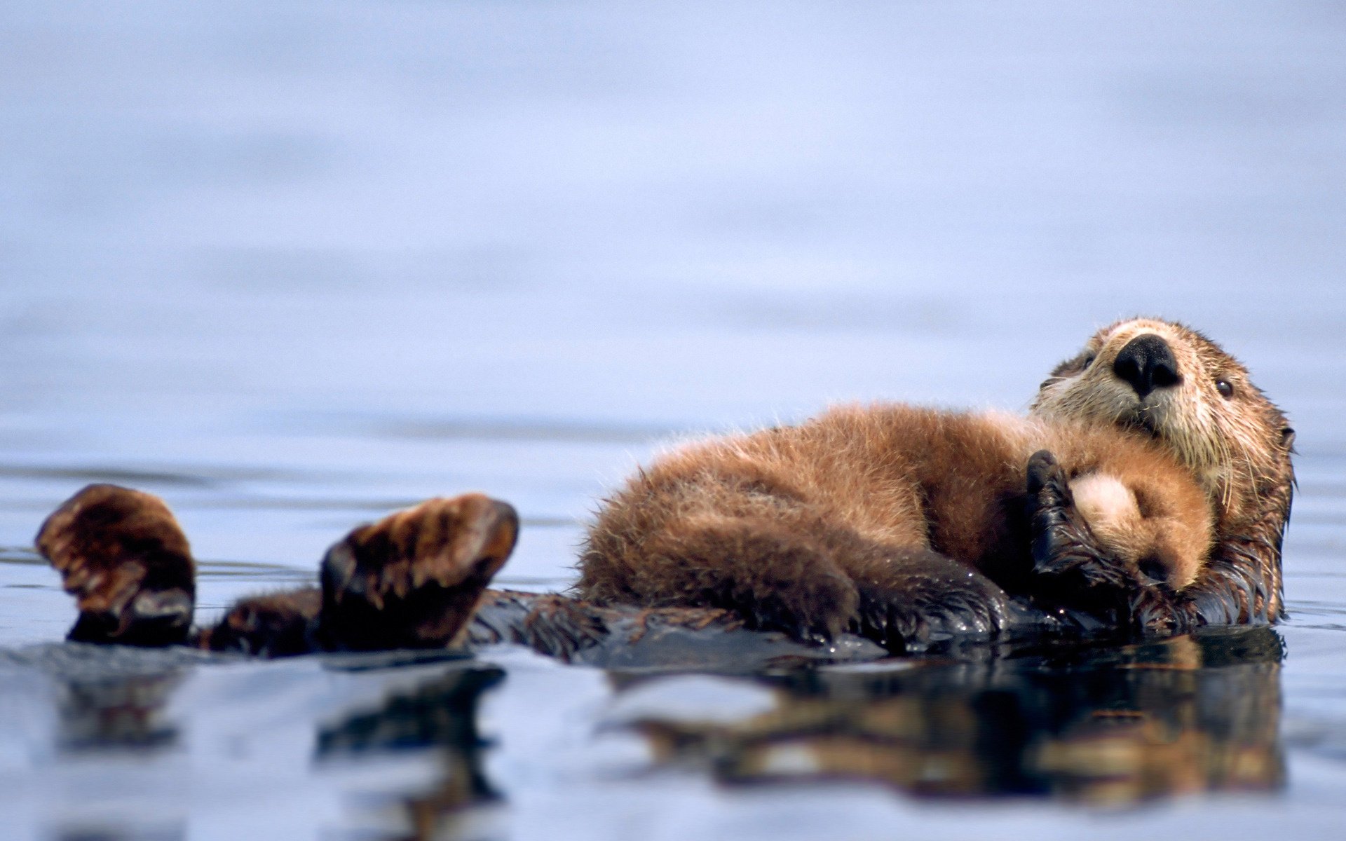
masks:
<svg viewBox="0 0 1346 841"><path fill-rule="evenodd" d="M1027 490L1036 575L1051 579L1058 592L1093 597L1131 588L1129 571L1094 540L1051 452L1040 449L1028 459Z"/></svg>

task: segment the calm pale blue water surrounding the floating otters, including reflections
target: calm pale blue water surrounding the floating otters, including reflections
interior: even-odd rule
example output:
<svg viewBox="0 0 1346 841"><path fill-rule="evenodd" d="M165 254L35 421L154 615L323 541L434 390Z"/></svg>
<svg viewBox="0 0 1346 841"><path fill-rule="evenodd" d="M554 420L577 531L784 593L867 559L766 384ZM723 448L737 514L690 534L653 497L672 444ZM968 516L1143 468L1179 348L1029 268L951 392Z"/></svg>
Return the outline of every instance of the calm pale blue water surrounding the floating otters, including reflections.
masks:
<svg viewBox="0 0 1346 841"><path fill-rule="evenodd" d="M0 836L1334 837L1343 30L1307 1L4 4ZM501 581L552 589L670 441L1020 409L1137 312L1224 342L1299 431L1275 645L813 684L46 647L74 611L30 545L86 482L174 506L203 619L466 490L524 515ZM820 708L887 747L801 735Z"/></svg>

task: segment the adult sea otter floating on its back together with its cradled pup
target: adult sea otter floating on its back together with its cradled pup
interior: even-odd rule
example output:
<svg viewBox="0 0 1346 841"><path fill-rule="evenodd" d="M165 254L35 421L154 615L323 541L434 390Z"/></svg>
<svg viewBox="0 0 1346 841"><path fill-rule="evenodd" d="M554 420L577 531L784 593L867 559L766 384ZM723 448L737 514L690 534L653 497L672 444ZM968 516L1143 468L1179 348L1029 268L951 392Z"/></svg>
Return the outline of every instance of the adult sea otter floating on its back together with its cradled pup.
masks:
<svg viewBox="0 0 1346 841"><path fill-rule="evenodd" d="M1209 393L1230 389L1241 401L1224 414L1206 405ZM1279 616L1292 432L1237 362L1180 326L1121 322L1054 371L1032 412L841 409L674 455L600 513L581 599L485 589L517 518L481 495L357 529L328 552L320 588L245 599L197 632L186 538L157 499L93 486L47 519L38 546L79 600L73 639L264 654L468 638L565 655L651 623L800 638L851 628L900 649L931 628L995 632L1066 607L1156 631ZM915 448L895 435L902 429ZM1229 440L1195 444L1221 436ZM1028 458L1039 445L1059 459ZM754 463L754 452L771 456ZM899 463L926 474L898 470L892 487L876 488L875 476ZM1253 490L1241 484L1253 479ZM713 499L725 507L707 509ZM887 519L884 505L894 506ZM720 556L684 552L689 562L674 562L670 540L685 534L685 514L721 541ZM781 545L782 536L793 542ZM641 554L633 538L654 552ZM771 541L779 552L763 554L758 544ZM743 562L746 549L765 566ZM816 564L822 553L833 553L830 566Z"/></svg>

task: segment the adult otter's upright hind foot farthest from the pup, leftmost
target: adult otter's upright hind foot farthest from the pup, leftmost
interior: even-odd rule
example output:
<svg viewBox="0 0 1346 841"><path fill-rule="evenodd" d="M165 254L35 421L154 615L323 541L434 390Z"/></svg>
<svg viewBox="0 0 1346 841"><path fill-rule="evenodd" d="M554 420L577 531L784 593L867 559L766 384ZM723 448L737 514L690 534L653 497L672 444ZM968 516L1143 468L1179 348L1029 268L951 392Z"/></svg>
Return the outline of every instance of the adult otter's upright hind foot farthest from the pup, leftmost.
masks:
<svg viewBox="0 0 1346 841"><path fill-rule="evenodd" d="M131 646L187 641L195 564L187 537L157 497L90 484L42 523L36 546L79 606L69 639Z"/></svg>

